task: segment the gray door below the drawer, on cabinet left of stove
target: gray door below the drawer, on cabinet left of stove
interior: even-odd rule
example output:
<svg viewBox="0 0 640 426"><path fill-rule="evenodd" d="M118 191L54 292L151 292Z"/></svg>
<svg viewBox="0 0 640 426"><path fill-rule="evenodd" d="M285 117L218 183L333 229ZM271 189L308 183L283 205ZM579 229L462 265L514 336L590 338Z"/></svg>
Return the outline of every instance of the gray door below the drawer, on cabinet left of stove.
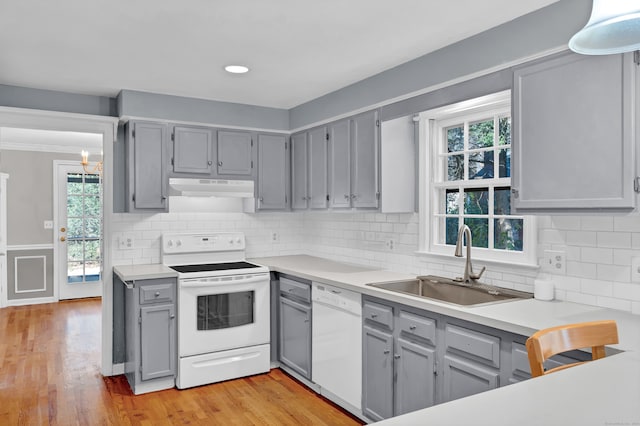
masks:
<svg viewBox="0 0 640 426"><path fill-rule="evenodd" d="M175 305L140 308L140 373L142 380L173 376L176 372Z"/></svg>

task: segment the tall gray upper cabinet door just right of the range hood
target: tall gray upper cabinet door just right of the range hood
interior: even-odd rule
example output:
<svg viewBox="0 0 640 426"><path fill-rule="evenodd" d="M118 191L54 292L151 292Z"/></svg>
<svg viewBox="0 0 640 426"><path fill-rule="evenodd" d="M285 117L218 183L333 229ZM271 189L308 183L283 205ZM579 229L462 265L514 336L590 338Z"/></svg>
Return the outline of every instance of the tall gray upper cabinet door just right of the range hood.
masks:
<svg viewBox="0 0 640 426"><path fill-rule="evenodd" d="M258 209L288 209L288 193L287 138L279 135L258 135Z"/></svg>

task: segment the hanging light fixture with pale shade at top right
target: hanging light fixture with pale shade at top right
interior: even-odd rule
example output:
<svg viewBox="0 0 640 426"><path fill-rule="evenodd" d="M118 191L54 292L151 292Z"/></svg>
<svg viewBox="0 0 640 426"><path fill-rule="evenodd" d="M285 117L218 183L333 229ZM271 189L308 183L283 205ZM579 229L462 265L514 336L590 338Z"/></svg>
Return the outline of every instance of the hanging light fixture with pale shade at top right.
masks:
<svg viewBox="0 0 640 426"><path fill-rule="evenodd" d="M609 55L640 49L640 2L593 0L591 18L569 48L583 55Z"/></svg>

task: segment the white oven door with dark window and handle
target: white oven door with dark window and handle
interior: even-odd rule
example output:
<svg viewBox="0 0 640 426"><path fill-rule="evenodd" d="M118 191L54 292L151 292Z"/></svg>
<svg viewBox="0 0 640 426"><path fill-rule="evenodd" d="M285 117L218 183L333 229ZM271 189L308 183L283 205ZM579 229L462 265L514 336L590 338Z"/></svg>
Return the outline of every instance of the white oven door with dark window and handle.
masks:
<svg viewBox="0 0 640 426"><path fill-rule="evenodd" d="M179 281L180 357L269 343L269 274Z"/></svg>

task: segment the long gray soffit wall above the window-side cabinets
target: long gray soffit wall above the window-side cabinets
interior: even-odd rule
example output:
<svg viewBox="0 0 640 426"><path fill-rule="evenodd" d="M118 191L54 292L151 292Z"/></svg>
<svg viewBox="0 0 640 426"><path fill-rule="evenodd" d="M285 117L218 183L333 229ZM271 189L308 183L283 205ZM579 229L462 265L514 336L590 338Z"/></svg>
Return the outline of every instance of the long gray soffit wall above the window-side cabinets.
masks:
<svg viewBox="0 0 640 426"><path fill-rule="evenodd" d="M308 126L566 46L569 38L587 22L590 12L591 2L586 0L561 0L553 3L511 22L298 105L289 111L290 128ZM424 108L407 113L422 110Z"/></svg>

